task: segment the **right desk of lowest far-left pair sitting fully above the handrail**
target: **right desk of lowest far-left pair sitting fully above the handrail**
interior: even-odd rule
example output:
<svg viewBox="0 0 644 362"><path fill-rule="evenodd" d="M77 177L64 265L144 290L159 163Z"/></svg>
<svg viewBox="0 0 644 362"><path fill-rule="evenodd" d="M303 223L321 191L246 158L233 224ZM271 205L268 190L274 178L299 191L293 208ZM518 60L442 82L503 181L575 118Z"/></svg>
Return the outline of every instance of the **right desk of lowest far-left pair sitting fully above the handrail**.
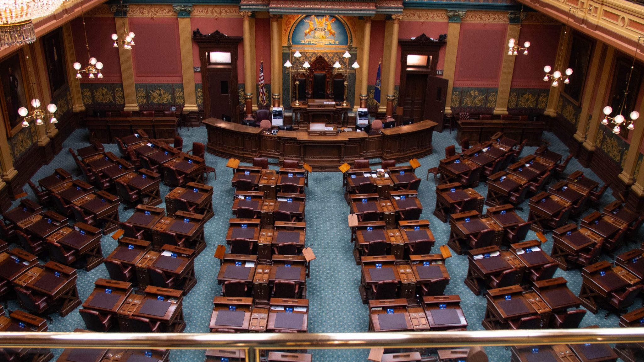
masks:
<svg viewBox="0 0 644 362"><path fill-rule="evenodd" d="M58 310L58 314L64 317L82 303L76 289L76 278L76 269L49 261L42 267L33 267L14 284L47 296L53 310Z"/></svg>

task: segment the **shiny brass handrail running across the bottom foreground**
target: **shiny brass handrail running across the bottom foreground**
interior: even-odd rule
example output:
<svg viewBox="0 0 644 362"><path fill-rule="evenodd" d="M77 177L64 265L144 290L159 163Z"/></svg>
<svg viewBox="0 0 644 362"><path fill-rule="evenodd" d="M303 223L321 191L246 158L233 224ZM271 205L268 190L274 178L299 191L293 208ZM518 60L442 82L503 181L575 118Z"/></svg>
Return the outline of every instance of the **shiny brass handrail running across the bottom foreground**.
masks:
<svg viewBox="0 0 644 362"><path fill-rule="evenodd" d="M357 333L0 332L10 348L327 349L638 343L644 328Z"/></svg>

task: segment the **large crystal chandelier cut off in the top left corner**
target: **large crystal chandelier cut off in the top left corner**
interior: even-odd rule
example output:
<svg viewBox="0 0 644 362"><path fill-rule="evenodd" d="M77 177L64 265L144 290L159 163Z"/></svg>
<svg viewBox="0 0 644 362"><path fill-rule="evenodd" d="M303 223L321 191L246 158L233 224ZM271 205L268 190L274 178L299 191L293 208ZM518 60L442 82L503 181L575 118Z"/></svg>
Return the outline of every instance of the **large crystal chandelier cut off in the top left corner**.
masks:
<svg viewBox="0 0 644 362"><path fill-rule="evenodd" d="M0 0L0 48L36 40L32 19L52 14L64 0Z"/></svg>

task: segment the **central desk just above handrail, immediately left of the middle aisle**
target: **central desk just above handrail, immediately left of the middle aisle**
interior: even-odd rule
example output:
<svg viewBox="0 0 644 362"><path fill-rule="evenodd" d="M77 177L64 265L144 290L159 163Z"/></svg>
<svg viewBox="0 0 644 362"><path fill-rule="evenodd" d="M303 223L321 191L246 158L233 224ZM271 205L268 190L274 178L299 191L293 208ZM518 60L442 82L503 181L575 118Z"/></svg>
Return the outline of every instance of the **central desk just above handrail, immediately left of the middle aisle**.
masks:
<svg viewBox="0 0 644 362"><path fill-rule="evenodd" d="M308 300L270 298L269 320L266 330L306 332L307 325Z"/></svg>

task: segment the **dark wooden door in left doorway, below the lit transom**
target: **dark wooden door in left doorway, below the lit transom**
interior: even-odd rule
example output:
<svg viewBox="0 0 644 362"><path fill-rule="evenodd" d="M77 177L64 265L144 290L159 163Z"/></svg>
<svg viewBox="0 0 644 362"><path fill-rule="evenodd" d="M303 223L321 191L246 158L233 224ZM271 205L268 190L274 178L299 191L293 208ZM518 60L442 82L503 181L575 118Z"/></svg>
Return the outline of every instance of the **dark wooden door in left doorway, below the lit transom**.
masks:
<svg viewBox="0 0 644 362"><path fill-rule="evenodd" d="M227 122L232 121L235 110L232 108L231 71L209 71L208 72L208 100L210 114L208 117L220 118Z"/></svg>

